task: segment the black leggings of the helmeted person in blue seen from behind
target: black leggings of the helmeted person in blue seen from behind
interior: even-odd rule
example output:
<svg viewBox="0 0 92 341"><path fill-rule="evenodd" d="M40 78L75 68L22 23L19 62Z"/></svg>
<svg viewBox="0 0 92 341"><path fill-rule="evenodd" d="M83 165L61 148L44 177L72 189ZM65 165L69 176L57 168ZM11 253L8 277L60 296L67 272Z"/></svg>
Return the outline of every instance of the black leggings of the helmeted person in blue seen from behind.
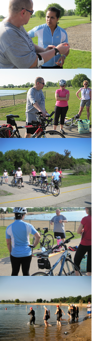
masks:
<svg viewBox="0 0 92 341"><path fill-rule="evenodd" d="M12 265L11 276L18 276L20 265L21 265L23 276L30 276L29 269L30 269L32 255L28 257L13 257L12 255L10 255L10 259L11 259L11 265Z"/></svg>

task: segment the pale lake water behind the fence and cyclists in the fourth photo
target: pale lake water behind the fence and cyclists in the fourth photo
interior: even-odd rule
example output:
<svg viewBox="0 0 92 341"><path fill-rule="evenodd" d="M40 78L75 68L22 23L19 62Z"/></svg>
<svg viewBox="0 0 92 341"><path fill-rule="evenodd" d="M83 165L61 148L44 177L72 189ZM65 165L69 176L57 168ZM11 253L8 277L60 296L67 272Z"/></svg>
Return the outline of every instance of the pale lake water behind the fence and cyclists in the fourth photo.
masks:
<svg viewBox="0 0 92 341"><path fill-rule="evenodd" d="M53 218L53 216L55 215L56 213L42 213L42 214L29 214L26 216L26 218L24 220L51 220ZM66 219L68 220L68 222L80 222L81 219L84 217L84 216L87 216L85 210L84 211L71 211L71 212L66 212L66 211L62 211L62 213ZM13 219L13 217L10 217L10 218L5 218L5 219Z"/></svg>

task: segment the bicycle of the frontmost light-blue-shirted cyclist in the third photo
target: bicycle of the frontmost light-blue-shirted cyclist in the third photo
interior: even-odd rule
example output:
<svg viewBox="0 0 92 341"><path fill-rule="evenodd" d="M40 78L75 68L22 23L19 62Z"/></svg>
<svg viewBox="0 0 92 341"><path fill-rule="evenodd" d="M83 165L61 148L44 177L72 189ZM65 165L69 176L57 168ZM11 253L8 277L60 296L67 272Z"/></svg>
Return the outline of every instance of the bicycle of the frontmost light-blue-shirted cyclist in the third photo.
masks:
<svg viewBox="0 0 92 341"><path fill-rule="evenodd" d="M44 180L44 185L41 187L43 193L49 194L49 189L51 188L51 192L54 196L58 196L60 191L59 187L53 183L53 180L48 184L48 180Z"/></svg>

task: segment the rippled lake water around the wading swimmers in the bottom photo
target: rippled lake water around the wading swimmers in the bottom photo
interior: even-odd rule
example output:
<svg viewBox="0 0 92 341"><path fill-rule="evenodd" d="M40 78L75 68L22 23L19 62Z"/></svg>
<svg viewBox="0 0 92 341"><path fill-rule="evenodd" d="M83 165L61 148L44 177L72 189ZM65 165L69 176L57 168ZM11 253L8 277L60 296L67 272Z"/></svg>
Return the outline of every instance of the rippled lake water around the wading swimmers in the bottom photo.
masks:
<svg viewBox="0 0 92 341"><path fill-rule="evenodd" d="M30 326L29 308L33 307L35 310L35 327ZM7 310L5 308L7 307ZM44 308L43 306L34 306L30 304L27 306L16 306L14 305L0 305L0 339L2 341L62 341L66 338L64 332L67 335L71 335L77 327L82 323L86 316L87 309L79 307L79 320L75 320L75 323L68 324L65 321L61 322L61 327L57 326L56 323L56 306L48 306L51 313L51 319L49 323L51 327L45 327L43 321ZM62 310L65 315L62 314L62 318L68 320L67 307L62 306ZM71 339L71 338L70 338Z"/></svg>

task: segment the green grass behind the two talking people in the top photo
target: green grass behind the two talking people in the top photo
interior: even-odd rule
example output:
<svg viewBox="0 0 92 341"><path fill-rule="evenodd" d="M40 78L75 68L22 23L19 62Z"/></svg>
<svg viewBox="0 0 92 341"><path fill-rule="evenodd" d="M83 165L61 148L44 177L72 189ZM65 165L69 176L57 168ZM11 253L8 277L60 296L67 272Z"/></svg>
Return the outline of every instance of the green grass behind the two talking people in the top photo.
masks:
<svg viewBox="0 0 92 341"><path fill-rule="evenodd" d="M2 19L0 19L2 21ZM24 25L26 31L32 30L35 26L42 25L45 23L45 18L30 18L29 23ZM90 23L90 16L81 17L78 15L63 16L59 19L59 26L63 29L67 27L77 26L81 24ZM38 38L32 39L34 44L38 44ZM91 52L70 50L70 54L67 56L63 69L77 69L77 68L90 68L91 69Z"/></svg>

